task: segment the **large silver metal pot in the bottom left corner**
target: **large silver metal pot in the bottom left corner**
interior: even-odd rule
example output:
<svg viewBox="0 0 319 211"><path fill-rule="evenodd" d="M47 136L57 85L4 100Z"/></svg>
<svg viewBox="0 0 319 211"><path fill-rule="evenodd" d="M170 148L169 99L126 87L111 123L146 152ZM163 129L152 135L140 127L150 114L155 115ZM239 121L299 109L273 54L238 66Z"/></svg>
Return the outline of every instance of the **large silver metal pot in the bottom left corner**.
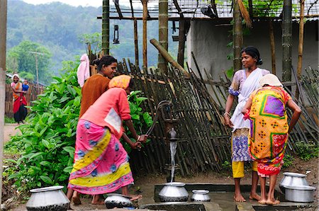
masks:
<svg viewBox="0 0 319 211"><path fill-rule="evenodd" d="M63 186L50 186L30 190L31 197L26 203L27 210L66 211L69 199L62 191Z"/></svg>

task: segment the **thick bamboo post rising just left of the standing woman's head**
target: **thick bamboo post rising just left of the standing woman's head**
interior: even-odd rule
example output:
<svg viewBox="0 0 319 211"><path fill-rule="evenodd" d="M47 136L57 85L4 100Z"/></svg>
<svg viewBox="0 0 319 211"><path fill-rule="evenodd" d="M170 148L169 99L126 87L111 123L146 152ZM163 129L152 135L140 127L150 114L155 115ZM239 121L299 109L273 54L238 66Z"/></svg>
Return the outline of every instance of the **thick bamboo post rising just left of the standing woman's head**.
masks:
<svg viewBox="0 0 319 211"><path fill-rule="evenodd" d="M234 52L234 72L242 68L242 59L240 51L242 50L242 16L240 14L240 6L238 1L234 2L234 12L233 12L233 52Z"/></svg>

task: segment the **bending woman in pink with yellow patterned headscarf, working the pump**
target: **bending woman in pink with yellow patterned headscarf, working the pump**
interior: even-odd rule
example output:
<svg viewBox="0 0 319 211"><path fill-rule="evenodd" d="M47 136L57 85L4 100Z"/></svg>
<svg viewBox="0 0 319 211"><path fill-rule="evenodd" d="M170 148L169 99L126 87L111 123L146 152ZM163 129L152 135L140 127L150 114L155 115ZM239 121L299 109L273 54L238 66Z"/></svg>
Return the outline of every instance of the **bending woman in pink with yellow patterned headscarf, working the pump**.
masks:
<svg viewBox="0 0 319 211"><path fill-rule="evenodd" d="M127 94L133 86L130 76L116 76L103 93L79 119L75 142L74 165L69 176L69 186L79 193L99 195L122 188L128 194L128 185L133 176L125 152L119 139L123 135L133 149L145 142L146 135L138 135L130 118ZM128 126L136 142L123 134L122 121ZM131 195L131 200L140 195ZM92 203L101 203L99 202Z"/></svg>

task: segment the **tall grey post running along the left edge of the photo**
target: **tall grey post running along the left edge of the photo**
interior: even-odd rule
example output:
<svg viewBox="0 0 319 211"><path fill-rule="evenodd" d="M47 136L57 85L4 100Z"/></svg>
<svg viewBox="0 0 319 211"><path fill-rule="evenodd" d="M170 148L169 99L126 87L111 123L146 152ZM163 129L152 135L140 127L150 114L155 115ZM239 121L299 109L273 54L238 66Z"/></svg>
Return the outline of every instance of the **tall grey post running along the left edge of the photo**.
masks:
<svg viewBox="0 0 319 211"><path fill-rule="evenodd" d="M7 0L0 1L0 203L4 158L4 103L6 98L6 14Z"/></svg>

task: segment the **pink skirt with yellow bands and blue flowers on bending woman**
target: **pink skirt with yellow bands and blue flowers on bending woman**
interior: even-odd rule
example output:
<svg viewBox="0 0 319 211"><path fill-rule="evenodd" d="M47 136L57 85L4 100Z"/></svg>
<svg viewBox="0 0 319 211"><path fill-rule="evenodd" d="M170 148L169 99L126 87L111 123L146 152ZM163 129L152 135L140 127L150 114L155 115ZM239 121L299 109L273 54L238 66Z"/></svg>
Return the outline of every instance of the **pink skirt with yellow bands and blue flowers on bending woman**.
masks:
<svg viewBox="0 0 319 211"><path fill-rule="evenodd" d="M79 120L69 186L79 193L111 193L133 183L128 154L107 127Z"/></svg>

